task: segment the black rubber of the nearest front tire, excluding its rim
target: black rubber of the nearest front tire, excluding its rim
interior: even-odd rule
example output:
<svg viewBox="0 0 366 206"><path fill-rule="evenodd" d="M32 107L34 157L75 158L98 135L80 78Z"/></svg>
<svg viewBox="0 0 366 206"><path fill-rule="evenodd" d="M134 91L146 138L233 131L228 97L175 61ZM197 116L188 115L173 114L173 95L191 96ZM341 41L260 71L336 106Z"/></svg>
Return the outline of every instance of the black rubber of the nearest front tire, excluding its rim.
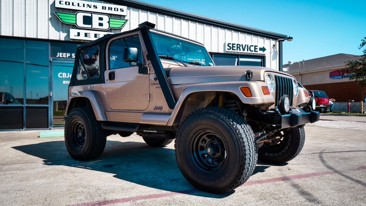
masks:
<svg viewBox="0 0 366 206"><path fill-rule="evenodd" d="M220 168L210 173L199 169L191 157L191 141L202 130L216 132L225 146ZM202 191L219 194L239 187L253 173L257 155L251 127L238 114L225 108L206 107L190 113L176 134L175 157L179 169L189 183Z"/></svg>

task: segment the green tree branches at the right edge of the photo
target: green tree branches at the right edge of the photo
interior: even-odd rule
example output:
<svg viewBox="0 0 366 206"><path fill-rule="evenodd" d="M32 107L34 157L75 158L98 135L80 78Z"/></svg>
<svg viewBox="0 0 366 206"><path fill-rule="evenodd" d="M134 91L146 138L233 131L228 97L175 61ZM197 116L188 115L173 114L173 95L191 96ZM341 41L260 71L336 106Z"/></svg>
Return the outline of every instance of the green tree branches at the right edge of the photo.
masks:
<svg viewBox="0 0 366 206"><path fill-rule="evenodd" d="M361 49L366 45L366 37L361 40L361 44L358 49ZM366 46L365 46L366 47ZM366 48L363 50L361 59L355 61L346 62L346 72L350 75L350 80L358 81L358 85L361 87L366 86Z"/></svg>

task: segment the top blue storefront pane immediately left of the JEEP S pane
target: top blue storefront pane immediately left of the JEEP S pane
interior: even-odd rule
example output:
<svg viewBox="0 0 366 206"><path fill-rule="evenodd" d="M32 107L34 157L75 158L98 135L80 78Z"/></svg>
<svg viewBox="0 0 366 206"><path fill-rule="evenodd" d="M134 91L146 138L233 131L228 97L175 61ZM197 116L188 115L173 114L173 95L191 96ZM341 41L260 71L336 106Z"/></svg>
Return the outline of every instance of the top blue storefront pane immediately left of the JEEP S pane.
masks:
<svg viewBox="0 0 366 206"><path fill-rule="evenodd" d="M26 63L48 67L48 42L26 41Z"/></svg>

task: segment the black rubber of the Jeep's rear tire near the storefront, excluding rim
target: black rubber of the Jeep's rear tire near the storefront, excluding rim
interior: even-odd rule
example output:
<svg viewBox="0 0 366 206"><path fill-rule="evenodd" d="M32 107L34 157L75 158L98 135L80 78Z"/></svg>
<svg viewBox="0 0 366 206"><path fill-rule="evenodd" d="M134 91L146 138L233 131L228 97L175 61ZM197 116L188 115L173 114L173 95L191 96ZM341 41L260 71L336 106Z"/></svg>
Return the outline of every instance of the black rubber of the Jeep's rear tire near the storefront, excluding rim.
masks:
<svg viewBox="0 0 366 206"><path fill-rule="evenodd" d="M85 128L85 140L82 146L76 145L71 131L78 121ZM92 108L78 107L70 111L65 124L65 144L72 158L79 161L95 159L102 154L106 142L107 132L97 121Z"/></svg>

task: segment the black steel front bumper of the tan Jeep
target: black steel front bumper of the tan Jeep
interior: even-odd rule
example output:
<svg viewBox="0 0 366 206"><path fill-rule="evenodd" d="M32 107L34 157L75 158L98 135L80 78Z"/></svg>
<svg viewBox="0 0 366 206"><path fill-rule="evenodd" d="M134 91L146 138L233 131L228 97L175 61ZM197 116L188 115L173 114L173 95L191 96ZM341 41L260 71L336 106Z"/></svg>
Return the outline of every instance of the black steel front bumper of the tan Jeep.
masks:
<svg viewBox="0 0 366 206"><path fill-rule="evenodd" d="M289 114L284 115L277 111L249 112L247 118L263 124L276 125L283 129L319 121L320 113L313 111L305 112L300 108L296 108Z"/></svg>

